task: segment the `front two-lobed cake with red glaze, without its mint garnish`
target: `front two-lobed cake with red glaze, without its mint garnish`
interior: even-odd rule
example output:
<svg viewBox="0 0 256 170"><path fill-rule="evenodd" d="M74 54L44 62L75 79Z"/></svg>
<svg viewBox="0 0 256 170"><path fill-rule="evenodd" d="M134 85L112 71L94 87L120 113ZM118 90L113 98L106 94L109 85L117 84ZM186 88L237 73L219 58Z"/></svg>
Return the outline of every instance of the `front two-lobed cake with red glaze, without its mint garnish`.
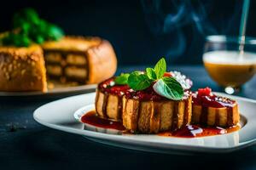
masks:
<svg viewBox="0 0 256 170"><path fill-rule="evenodd" d="M192 97L186 91L183 99L170 100L154 92L153 87L134 91L128 85L117 85L110 78L96 89L98 116L123 121L131 133L158 133L188 125L192 114Z"/></svg>

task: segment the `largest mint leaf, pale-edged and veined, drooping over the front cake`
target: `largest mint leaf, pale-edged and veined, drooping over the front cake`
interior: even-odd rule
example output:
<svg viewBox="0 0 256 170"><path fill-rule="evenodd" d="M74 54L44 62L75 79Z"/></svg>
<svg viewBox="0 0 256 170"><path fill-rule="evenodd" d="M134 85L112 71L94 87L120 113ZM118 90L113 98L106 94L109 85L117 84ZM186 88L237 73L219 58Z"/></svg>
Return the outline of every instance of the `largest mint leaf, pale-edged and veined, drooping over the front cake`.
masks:
<svg viewBox="0 0 256 170"><path fill-rule="evenodd" d="M179 82L173 77L162 77L154 83L154 92L167 99L179 100L183 99L183 88Z"/></svg>

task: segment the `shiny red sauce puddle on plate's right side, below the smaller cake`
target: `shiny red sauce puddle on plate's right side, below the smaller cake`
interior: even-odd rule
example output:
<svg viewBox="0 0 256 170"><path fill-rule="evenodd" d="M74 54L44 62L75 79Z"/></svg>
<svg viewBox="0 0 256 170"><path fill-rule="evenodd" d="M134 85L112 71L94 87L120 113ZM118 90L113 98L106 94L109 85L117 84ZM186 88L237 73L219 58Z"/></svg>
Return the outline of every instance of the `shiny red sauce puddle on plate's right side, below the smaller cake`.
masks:
<svg viewBox="0 0 256 170"><path fill-rule="evenodd" d="M162 133L158 133L158 135L166 136L166 137L195 138L195 137L206 137L206 136L213 136L213 135L224 134L224 133L231 133L239 129L240 129L239 125L234 127L228 127L228 128L200 127L197 125L188 125L180 129L177 129L174 132L162 132Z"/></svg>

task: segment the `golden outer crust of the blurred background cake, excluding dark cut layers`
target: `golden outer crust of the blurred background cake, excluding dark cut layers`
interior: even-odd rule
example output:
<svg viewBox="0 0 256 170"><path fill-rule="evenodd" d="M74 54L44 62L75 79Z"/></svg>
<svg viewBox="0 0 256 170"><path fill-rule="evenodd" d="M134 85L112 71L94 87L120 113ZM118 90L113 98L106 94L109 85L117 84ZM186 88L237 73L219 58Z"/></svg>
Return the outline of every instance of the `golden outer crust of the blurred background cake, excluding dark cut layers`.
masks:
<svg viewBox="0 0 256 170"><path fill-rule="evenodd" d="M58 42L45 42L42 47L0 47L0 91L47 91L42 48L44 51L83 54L87 59L84 64L88 69L88 77L84 77L87 84L112 77L117 68L112 45L99 37L63 37Z"/></svg>

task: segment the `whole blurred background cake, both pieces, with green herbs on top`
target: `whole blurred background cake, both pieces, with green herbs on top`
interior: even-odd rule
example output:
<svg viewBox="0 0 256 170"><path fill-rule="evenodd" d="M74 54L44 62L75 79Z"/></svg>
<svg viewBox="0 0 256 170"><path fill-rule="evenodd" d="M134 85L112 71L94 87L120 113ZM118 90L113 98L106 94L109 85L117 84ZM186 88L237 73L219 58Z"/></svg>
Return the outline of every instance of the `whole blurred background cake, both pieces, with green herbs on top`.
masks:
<svg viewBox="0 0 256 170"><path fill-rule="evenodd" d="M56 86L94 84L112 77L117 67L110 42L65 36L32 8L15 14L12 30L0 40L0 91L46 92Z"/></svg>

